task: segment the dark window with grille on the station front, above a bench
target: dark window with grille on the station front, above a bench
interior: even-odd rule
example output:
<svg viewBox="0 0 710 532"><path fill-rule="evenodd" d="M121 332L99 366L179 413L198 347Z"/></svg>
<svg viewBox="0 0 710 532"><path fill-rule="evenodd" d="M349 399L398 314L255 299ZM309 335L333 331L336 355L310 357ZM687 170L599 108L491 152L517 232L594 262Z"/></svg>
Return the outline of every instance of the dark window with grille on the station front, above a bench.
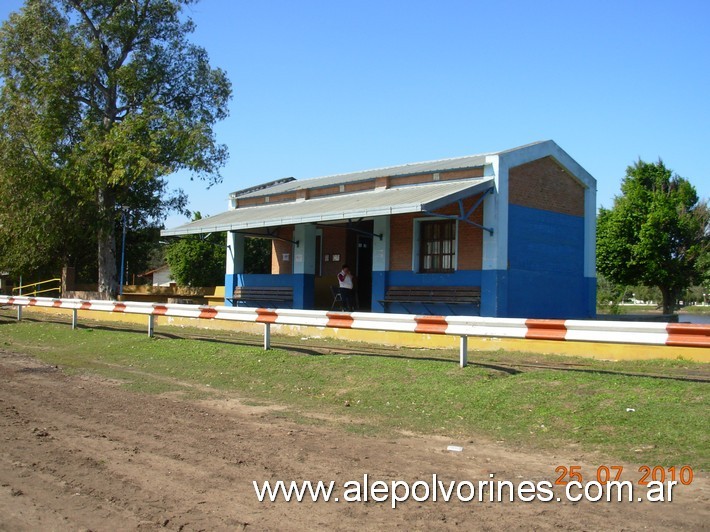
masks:
<svg viewBox="0 0 710 532"><path fill-rule="evenodd" d="M419 225L419 272L452 272L456 267L456 222L433 220Z"/></svg>

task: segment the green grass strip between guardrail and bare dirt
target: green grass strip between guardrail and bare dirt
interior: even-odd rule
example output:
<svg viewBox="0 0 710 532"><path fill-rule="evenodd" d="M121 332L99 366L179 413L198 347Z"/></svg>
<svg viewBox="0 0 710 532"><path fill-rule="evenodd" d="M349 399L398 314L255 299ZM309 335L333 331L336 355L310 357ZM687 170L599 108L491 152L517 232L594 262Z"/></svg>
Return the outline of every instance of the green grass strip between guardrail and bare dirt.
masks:
<svg viewBox="0 0 710 532"><path fill-rule="evenodd" d="M708 384L658 378L710 376L707 365L684 360L603 362L501 351L470 353L472 364L461 369L455 352L439 350L382 356L363 346L361 354L322 354L337 348L324 342L321 350L265 352L228 333L211 341L150 339L143 331L72 331L63 323L3 322L1 315L0 334L0 350L117 379L136 392L188 399L236 393L286 407L271 415L342 424L358 434L413 431L462 442L480 435L511 448L568 447L609 460L710 466Z"/></svg>

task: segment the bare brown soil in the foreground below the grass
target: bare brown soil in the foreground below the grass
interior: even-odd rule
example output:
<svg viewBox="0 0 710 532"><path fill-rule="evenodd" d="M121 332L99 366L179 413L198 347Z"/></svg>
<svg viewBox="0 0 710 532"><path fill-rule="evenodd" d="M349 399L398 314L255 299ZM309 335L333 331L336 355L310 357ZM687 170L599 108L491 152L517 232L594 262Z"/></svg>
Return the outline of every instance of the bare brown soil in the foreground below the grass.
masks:
<svg viewBox="0 0 710 532"><path fill-rule="evenodd" d="M554 481L559 465L584 472L601 465L572 448L531 452L476 435L375 438L354 435L342 420L306 419L236 396L130 392L0 351L0 530L701 530L710 523L710 483L697 471L691 485L674 488L672 503L259 502L252 481L342 486L364 474L414 482L436 473L446 482L493 474L519 483ZM624 478L636 482L638 464L625 466Z"/></svg>

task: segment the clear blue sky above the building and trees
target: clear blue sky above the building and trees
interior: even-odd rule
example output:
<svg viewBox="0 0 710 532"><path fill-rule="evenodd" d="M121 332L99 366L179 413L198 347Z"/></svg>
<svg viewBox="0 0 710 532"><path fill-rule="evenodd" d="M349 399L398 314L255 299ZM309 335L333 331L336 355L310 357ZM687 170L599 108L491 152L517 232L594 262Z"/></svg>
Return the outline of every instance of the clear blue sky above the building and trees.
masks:
<svg viewBox="0 0 710 532"><path fill-rule="evenodd" d="M2 0L0 19L20 0ZM610 207L638 158L710 196L706 0L202 0L192 40L233 84L233 190L555 140ZM171 216L168 227L186 219Z"/></svg>

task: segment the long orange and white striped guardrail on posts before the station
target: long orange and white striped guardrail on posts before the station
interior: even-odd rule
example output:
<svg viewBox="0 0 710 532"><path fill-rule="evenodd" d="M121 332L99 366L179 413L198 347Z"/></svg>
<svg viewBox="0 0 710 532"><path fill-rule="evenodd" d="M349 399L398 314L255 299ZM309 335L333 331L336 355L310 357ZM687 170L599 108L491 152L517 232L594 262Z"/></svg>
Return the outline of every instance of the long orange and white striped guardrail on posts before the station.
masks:
<svg viewBox="0 0 710 532"><path fill-rule="evenodd" d="M0 305L17 307L18 320L22 318L22 308L26 306L71 309L73 311L72 328L77 325L78 311L80 310L144 314L148 316L148 334L151 336L155 328L155 316L262 323L264 324L264 349L269 349L271 345L270 326L272 324L445 334L458 336L461 339L461 367L467 364L467 338L469 336L710 347L710 325L687 323L424 316L373 312L346 313L25 296L0 296Z"/></svg>

